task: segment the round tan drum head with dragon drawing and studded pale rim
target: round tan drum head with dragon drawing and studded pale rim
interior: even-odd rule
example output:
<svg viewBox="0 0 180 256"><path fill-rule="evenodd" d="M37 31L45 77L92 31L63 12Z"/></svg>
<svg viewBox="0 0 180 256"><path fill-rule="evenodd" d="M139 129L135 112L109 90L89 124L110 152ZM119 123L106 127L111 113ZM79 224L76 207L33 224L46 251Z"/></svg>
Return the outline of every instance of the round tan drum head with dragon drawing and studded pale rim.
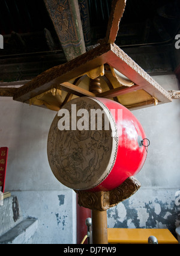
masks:
<svg viewBox="0 0 180 256"><path fill-rule="evenodd" d="M49 164L56 178L71 189L92 189L105 180L115 164L117 148L115 120L95 98L71 100L59 110L50 126Z"/></svg>

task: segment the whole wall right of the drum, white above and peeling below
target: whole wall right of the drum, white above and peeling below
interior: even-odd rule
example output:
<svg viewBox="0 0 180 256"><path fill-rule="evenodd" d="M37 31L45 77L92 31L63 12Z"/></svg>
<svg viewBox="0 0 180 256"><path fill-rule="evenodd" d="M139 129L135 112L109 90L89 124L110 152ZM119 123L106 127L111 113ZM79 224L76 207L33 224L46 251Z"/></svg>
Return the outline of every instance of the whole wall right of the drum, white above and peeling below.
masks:
<svg viewBox="0 0 180 256"><path fill-rule="evenodd" d="M166 90L179 90L175 75L154 79ZM133 114L151 142L146 162L136 175L142 187L107 211L108 226L169 228L175 235L180 225L180 101L134 110Z"/></svg>

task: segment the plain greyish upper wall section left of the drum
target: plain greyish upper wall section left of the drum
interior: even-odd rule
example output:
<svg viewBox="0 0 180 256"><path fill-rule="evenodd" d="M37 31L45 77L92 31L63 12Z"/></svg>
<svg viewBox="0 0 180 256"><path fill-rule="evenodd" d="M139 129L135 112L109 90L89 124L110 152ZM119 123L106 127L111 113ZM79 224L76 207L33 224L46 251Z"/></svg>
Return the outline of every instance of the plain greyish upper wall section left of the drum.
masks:
<svg viewBox="0 0 180 256"><path fill-rule="evenodd" d="M0 108L0 145L9 148L5 188L66 190L47 160L47 136L56 112L3 97Z"/></svg>

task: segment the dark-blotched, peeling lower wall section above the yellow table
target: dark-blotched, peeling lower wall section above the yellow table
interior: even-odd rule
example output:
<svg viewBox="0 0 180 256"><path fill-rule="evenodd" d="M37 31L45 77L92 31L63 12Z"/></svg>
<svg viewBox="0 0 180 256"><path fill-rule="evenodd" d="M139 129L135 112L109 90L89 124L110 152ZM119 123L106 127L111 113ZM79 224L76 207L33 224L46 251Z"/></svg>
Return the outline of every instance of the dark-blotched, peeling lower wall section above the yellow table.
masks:
<svg viewBox="0 0 180 256"><path fill-rule="evenodd" d="M140 189L131 198L107 210L109 228L168 228L176 237L180 207L176 189ZM180 197L179 197L180 199Z"/></svg>

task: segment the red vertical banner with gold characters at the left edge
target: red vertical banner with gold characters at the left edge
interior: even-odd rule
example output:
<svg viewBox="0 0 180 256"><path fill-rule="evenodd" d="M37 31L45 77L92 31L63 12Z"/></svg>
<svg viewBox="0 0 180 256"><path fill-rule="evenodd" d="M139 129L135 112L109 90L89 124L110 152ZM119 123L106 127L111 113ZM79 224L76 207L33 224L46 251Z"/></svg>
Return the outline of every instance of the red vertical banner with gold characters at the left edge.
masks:
<svg viewBox="0 0 180 256"><path fill-rule="evenodd" d="M0 148L0 187L1 187L2 193L4 193L4 186L5 186L7 155L8 155L8 148L7 147Z"/></svg>

